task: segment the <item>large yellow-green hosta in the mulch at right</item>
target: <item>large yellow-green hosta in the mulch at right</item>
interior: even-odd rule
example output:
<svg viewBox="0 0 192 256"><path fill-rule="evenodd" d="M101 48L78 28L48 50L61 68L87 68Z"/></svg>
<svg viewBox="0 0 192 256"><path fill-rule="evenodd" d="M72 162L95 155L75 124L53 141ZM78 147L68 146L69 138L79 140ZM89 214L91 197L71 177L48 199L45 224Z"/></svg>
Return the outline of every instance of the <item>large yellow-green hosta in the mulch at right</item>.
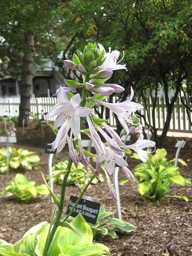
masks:
<svg viewBox="0 0 192 256"><path fill-rule="evenodd" d="M164 148L157 149L154 155L148 154L147 162L138 164L134 168L134 175L138 184L138 190L140 194L151 201L157 201L159 203L166 197L177 197L189 201L186 196L174 196L165 195L165 192L169 192L169 187L172 183L180 186L185 186L186 183L191 184L191 181L180 175L180 168L174 167L175 159L167 161L165 156L167 151ZM138 159L136 154L131 156ZM178 162L182 165L187 164L178 159ZM126 183L124 179L120 184Z"/></svg>

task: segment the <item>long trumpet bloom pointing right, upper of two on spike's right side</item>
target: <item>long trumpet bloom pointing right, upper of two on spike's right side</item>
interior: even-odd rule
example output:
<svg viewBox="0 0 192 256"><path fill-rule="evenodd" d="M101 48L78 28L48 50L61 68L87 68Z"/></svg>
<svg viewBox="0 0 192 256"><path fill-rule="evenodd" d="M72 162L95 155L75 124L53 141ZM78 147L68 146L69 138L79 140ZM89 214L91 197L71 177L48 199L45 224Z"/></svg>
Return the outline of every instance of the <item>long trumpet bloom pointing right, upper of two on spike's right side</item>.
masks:
<svg viewBox="0 0 192 256"><path fill-rule="evenodd" d="M127 132L127 135L129 134L129 128L127 126L126 122L130 122L130 113L129 112L136 112L137 110L143 109L143 105L131 101L134 96L133 89L131 87L131 95L127 98L127 100L120 102L120 103L109 103L102 100L93 99L94 102L103 105L107 108L109 108L111 111L113 111L117 118L119 119L119 122Z"/></svg>

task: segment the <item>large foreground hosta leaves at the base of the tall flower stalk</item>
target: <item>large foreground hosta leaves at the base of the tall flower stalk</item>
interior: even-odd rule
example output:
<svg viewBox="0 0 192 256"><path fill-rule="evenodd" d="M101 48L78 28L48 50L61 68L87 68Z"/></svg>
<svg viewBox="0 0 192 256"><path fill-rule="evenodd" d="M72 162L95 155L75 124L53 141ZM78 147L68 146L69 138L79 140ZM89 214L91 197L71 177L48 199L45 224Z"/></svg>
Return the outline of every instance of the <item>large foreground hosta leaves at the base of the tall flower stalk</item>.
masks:
<svg viewBox="0 0 192 256"><path fill-rule="evenodd" d="M60 222L47 256L110 255L107 246L92 242L92 229L81 214L71 223ZM15 244L8 244L1 239L0 256L43 256L46 237L50 235L50 231L51 225L44 221L30 228Z"/></svg>

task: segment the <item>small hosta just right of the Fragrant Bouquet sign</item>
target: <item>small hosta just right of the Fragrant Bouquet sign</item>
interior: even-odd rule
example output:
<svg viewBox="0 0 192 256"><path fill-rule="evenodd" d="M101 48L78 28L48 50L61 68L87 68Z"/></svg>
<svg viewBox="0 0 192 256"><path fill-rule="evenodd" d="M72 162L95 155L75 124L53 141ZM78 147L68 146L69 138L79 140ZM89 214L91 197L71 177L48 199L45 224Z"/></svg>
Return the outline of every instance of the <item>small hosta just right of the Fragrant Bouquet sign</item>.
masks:
<svg viewBox="0 0 192 256"><path fill-rule="evenodd" d="M89 224L92 228L93 240L97 239L99 235L108 235L112 238L119 238L116 234L116 231L121 230L125 232L131 232L135 229L135 226L126 221L119 220L117 218L105 219L112 214L113 212L106 212L105 207L100 207L96 225ZM72 219L73 218L70 217L68 220L70 221Z"/></svg>

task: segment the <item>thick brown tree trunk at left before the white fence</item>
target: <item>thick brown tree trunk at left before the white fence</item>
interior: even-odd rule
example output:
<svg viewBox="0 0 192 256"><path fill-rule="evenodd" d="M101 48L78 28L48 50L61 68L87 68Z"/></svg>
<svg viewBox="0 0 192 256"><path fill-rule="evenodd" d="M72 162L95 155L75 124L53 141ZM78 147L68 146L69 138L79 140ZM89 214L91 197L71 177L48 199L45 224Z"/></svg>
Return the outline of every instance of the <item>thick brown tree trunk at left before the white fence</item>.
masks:
<svg viewBox="0 0 192 256"><path fill-rule="evenodd" d="M23 74L21 84L21 100L19 107L19 122L18 125L22 126L22 121L25 119L25 126L29 126L30 114L30 99L33 86L33 52L35 51L34 34L29 33L25 35L25 44L27 51L23 57Z"/></svg>

